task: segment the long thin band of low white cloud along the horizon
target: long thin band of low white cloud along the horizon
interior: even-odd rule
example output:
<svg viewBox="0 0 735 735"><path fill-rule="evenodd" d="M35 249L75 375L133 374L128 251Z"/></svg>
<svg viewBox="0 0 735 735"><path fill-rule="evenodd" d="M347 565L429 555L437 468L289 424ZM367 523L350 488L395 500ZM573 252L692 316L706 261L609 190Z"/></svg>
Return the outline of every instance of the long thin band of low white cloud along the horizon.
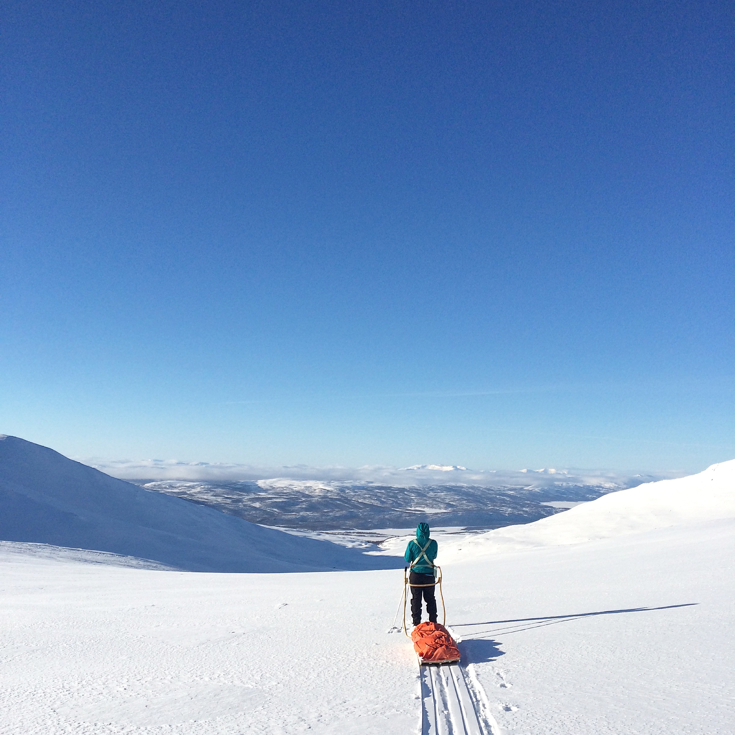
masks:
<svg viewBox="0 0 735 735"><path fill-rule="evenodd" d="M108 475L121 479L234 482L323 481L381 484L392 487L426 485L475 485L479 487L553 487L594 485L610 490L633 487L643 482L681 477L683 472L634 473L612 470L574 470L544 467L522 470L472 470L457 465L413 465L412 467L311 467L284 465L265 467L209 462L179 462L176 459L91 459L76 458Z"/></svg>

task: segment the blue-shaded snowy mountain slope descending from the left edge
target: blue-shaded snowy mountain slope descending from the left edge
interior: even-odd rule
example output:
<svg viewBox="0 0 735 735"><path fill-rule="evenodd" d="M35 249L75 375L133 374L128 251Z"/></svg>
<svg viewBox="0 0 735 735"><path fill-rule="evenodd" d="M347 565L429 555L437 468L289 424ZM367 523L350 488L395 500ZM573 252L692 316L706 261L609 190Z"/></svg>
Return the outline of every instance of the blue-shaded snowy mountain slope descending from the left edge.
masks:
<svg viewBox="0 0 735 735"><path fill-rule="evenodd" d="M398 562L293 537L148 492L17 437L0 437L0 539L107 551L190 571L377 569Z"/></svg>

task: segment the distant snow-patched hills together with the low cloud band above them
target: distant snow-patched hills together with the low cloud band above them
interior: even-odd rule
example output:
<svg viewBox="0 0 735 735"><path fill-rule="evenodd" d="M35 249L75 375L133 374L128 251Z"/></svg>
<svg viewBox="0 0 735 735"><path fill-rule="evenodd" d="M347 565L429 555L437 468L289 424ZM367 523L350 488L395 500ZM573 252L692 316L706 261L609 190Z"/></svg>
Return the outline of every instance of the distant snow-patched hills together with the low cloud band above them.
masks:
<svg viewBox="0 0 735 735"><path fill-rule="evenodd" d="M300 531L431 526L488 530L559 512L548 502L579 502L680 473L551 467L471 470L411 467L257 467L207 462L93 458L85 463L146 490L211 506L264 526Z"/></svg>

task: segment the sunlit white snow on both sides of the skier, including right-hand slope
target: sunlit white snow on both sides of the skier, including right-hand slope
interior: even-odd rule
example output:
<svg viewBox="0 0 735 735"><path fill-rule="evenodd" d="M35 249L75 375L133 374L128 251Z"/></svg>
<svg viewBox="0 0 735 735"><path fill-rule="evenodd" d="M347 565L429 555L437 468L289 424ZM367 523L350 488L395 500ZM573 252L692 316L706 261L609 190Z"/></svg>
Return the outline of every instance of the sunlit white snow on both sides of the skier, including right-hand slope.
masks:
<svg viewBox="0 0 735 735"><path fill-rule="evenodd" d="M447 623L493 735L735 731L734 472L440 537ZM402 569L104 559L0 544L1 733L420 731L411 645L387 634Z"/></svg>

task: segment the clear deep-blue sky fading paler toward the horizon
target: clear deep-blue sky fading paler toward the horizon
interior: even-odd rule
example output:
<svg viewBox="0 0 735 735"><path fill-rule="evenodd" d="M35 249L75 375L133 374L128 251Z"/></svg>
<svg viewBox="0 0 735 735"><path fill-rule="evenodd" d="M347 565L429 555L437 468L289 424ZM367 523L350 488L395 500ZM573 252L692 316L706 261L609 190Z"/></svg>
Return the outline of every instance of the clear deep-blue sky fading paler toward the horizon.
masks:
<svg viewBox="0 0 735 735"><path fill-rule="evenodd" d="M735 457L731 2L10 1L0 431Z"/></svg>

